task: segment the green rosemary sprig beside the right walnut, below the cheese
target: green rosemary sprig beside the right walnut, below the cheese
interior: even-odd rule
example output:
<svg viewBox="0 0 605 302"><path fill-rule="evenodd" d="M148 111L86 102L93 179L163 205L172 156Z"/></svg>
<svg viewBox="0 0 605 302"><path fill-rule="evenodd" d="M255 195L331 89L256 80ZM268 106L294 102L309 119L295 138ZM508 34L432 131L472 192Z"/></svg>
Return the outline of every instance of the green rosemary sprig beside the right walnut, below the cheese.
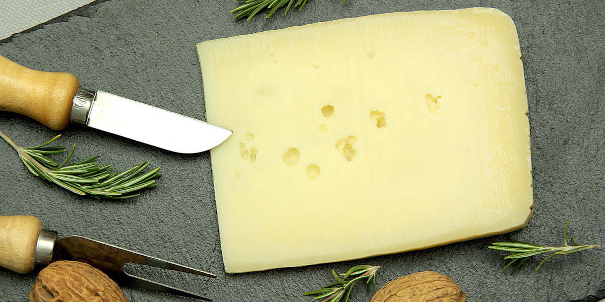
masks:
<svg viewBox="0 0 605 302"><path fill-rule="evenodd" d="M368 284L368 292L370 292L370 288L372 287L374 292L376 292L376 271L378 271L379 268L380 266L371 265L353 266L353 268L349 269L345 274L340 274L342 278L332 269L332 275L336 278L335 283L328 284L316 291L306 292L303 295L318 295L313 297L313 299L324 299L321 302L339 302L341 299L342 302L347 302L355 283L364 279L367 279L365 283ZM349 276L356 277L349 281L345 281ZM370 281L372 281L371 284Z"/></svg>

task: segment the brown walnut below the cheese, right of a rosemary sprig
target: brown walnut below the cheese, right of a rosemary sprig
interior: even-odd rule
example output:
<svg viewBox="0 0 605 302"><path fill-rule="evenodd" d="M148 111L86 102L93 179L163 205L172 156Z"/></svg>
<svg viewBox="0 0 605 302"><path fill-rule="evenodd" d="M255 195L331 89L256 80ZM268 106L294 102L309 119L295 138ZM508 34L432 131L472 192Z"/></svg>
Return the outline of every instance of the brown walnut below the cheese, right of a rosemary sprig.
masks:
<svg viewBox="0 0 605 302"><path fill-rule="evenodd" d="M371 302L466 302L466 294L438 272L417 272L382 286Z"/></svg>

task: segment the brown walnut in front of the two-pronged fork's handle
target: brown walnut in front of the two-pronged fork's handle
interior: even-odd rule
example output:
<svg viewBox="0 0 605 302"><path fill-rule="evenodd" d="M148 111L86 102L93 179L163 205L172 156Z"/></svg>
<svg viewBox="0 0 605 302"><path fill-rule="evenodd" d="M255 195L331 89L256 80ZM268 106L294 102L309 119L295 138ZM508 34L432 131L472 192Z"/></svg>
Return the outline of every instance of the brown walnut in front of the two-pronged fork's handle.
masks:
<svg viewBox="0 0 605 302"><path fill-rule="evenodd" d="M77 261L57 261L42 269L31 302L128 302L116 282L99 269Z"/></svg>

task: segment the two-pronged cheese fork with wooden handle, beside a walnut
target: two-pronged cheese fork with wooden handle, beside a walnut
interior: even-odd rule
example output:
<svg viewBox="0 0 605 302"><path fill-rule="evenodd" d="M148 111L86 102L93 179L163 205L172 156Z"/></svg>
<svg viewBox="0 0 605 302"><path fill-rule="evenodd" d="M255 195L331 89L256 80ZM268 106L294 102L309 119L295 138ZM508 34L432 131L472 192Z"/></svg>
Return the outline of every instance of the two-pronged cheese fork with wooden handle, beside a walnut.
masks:
<svg viewBox="0 0 605 302"><path fill-rule="evenodd" d="M58 260L88 263L105 272L116 283L123 286L166 292L205 301L212 300L192 292L128 274L123 270L123 265L125 263L137 263L205 277L217 277L209 272L85 237L72 235L57 239L57 233L43 229L42 222L34 216L0 216L0 266L26 274L31 272L36 265L48 265Z"/></svg>

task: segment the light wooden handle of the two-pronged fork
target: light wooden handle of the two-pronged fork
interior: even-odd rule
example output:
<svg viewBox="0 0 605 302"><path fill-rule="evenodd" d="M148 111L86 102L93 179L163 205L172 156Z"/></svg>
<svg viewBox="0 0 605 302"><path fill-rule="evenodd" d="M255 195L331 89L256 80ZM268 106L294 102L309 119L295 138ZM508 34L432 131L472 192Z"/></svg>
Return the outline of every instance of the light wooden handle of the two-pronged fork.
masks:
<svg viewBox="0 0 605 302"><path fill-rule="evenodd" d="M0 266L31 272L41 230L42 222L34 216L0 216Z"/></svg>

